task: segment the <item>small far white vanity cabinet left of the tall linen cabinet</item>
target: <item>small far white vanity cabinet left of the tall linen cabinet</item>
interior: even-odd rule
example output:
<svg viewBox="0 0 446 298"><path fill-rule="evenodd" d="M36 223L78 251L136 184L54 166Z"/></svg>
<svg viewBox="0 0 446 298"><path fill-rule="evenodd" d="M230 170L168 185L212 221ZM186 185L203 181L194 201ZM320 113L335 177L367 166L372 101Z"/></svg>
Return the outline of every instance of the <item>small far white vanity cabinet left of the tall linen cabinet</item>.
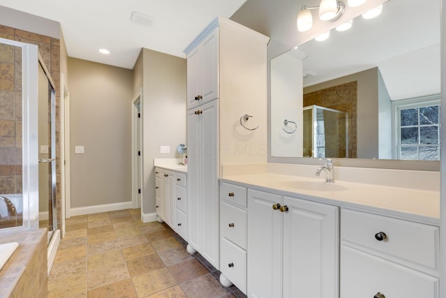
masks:
<svg viewBox="0 0 446 298"><path fill-rule="evenodd" d="M157 216L187 240L187 175L155 167Z"/></svg>

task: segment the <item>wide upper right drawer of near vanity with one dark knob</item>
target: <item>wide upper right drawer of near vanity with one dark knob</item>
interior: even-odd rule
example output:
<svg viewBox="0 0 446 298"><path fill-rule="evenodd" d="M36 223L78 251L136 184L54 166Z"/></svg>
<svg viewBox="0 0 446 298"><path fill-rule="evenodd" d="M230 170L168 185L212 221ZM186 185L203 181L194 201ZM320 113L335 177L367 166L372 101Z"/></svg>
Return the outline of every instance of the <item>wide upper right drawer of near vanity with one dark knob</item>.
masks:
<svg viewBox="0 0 446 298"><path fill-rule="evenodd" d="M383 240L378 241L383 232ZM341 240L438 269L438 228L387 216L341 210Z"/></svg>

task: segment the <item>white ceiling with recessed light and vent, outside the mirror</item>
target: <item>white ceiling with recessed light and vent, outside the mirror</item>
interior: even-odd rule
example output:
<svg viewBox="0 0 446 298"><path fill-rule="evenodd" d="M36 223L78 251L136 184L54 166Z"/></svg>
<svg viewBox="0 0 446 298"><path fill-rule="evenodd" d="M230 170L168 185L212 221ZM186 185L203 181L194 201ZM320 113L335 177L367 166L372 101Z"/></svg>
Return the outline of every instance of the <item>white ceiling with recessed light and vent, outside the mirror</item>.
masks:
<svg viewBox="0 0 446 298"><path fill-rule="evenodd" d="M61 23L68 56L132 69L146 47L178 57L217 15L231 17L246 0L0 0L6 6ZM151 27L130 21L137 11ZM107 48L111 54L98 50Z"/></svg>

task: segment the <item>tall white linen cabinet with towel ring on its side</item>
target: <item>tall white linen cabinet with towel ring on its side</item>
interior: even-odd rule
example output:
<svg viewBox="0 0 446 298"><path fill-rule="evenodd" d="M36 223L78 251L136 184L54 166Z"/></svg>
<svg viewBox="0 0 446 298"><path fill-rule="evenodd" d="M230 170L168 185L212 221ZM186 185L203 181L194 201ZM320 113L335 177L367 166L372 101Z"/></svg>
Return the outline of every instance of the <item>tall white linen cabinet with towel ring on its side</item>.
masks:
<svg viewBox="0 0 446 298"><path fill-rule="evenodd" d="M187 251L198 251L216 269L222 165L266 163L268 158L268 41L217 17L185 49Z"/></svg>

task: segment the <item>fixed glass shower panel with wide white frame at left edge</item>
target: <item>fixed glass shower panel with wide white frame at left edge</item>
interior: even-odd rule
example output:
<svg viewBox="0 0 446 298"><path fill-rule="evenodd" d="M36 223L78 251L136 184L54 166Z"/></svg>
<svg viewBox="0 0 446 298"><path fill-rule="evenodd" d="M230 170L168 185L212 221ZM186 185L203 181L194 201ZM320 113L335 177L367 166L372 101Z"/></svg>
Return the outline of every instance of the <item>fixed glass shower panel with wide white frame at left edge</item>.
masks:
<svg viewBox="0 0 446 298"><path fill-rule="evenodd" d="M38 47L0 38L0 233L38 228Z"/></svg>

